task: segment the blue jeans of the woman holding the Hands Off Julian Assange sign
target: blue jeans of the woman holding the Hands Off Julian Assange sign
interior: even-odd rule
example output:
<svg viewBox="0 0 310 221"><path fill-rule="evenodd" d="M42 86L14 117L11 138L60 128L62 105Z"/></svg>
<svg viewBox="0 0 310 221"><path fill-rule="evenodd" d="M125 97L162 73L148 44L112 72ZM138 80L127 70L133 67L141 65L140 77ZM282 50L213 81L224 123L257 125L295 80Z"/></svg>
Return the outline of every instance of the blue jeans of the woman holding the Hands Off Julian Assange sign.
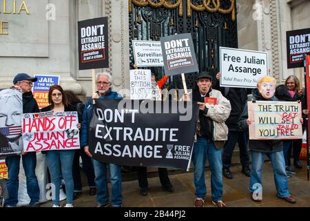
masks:
<svg viewBox="0 0 310 221"><path fill-rule="evenodd" d="M46 160L48 170L50 171L50 180L54 185L55 194L52 195L54 205L59 205L59 186L61 186L61 175L65 180L65 194L67 203L73 201L73 177L72 165L75 150L70 151L46 151Z"/></svg>

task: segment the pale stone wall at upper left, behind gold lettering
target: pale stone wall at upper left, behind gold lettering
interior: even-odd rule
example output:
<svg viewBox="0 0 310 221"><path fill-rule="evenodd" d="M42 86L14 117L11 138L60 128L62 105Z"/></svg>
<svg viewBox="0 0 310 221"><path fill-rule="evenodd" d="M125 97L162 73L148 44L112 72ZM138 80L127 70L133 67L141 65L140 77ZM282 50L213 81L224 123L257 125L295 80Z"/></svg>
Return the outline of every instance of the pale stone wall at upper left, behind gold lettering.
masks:
<svg viewBox="0 0 310 221"><path fill-rule="evenodd" d="M65 90L82 95L83 88L75 79L75 1L24 2L29 14L14 14L12 1L6 1L11 13L1 14L1 19L9 21L9 34L0 39L0 88L12 85L17 73L60 75Z"/></svg>

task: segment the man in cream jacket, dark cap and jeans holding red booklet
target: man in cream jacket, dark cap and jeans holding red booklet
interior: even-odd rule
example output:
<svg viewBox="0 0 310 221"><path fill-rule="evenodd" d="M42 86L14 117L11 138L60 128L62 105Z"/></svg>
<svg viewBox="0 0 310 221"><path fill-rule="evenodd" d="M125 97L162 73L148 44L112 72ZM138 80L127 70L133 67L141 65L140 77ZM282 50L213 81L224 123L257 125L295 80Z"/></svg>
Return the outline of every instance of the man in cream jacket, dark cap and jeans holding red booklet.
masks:
<svg viewBox="0 0 310 221"><path fill-rule="evenodd" d="M231 106L219 90L211 88L212 76L207 72L198 75L193 101L199 104L197 140L194 143L192 161L194 163L194 184L196 187L195 207L203 207L207 188L205 186L205 161L209 160L211 171L211 198L217 207L227 207L222 200L223 174L222 154L227 140L228 128L225 120L229 117ZM189 100L187 95L185 101ZM213 101L213 104L206 102Z"/></svg>

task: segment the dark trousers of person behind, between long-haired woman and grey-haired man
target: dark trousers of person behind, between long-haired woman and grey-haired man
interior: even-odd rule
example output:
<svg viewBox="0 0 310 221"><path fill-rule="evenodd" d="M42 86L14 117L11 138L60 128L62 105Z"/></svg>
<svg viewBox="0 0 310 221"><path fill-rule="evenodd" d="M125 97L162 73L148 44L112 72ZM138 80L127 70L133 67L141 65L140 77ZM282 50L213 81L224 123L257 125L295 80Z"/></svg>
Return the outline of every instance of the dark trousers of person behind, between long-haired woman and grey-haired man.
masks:
<svg viewBox="0 0 310 221"><path fill-rule="evenodd" d="M92 164L92 158L87 156L83 149L76 150L72 168L74 192L82 191L81 173L79 165L80 156L82 157L83 171L87 176L88 186L96 187L96 183L94 182L95 175L94 175L94 165Z"/></svg>

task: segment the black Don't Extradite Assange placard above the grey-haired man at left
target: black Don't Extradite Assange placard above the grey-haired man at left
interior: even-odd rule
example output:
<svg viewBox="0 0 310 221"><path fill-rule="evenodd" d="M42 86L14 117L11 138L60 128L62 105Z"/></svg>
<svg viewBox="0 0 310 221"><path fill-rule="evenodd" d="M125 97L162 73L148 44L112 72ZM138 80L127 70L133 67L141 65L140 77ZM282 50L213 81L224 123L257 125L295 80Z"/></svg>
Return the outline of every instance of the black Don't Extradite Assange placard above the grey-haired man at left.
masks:
<svg viewBox="0 0 310 221"><path fill-rule="evenodd" d="M107 17L78 22L79 70L108 68Z"/></svg>

